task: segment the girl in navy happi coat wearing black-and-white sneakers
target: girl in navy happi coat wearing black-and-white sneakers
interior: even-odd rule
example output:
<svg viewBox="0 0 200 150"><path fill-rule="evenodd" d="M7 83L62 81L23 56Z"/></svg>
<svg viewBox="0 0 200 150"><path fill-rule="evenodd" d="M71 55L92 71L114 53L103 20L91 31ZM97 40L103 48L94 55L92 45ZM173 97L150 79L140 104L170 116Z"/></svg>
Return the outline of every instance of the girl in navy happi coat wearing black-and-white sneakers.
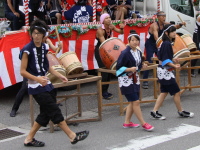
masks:
<svg viewBox="0 0 200 150"><path fill-rule="evenodd" d="M173 58L173 49L172 44L175 41L176 37L176 27L171 24L164 26L164 31L162 36L162 44L158 48L158 59L159 66L157 68L157 76L160 82L160 95L156 101L156 104L151 111L150 115L152 119L164 120L165 116L158 113L158 109L161 107L165 97L168 93L174 96L174 103L178 110L180 117L193 117L194 113L184 111L181 106L180 101L180 89L176 83L175 76L173 74L173 68L180 68L178 63L178 58Z"/></svg>

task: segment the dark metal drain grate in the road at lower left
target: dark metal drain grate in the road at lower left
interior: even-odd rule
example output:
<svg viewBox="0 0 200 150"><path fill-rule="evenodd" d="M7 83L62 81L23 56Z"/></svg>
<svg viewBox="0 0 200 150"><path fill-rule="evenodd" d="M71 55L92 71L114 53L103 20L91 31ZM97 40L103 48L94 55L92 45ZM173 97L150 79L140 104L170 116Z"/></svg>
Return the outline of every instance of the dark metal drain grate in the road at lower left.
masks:
<svg viewBox="0 0 200 150"><path fill-rule="evenodd" d="M14 131L14 130L10 130L10 129L3 129L3 130L0 130L0 141L8 139L8 138L15 137L15 136L19 136L19 135L22 135L22 134L24 134L24 133L17 132L17 131Z"/></svg>

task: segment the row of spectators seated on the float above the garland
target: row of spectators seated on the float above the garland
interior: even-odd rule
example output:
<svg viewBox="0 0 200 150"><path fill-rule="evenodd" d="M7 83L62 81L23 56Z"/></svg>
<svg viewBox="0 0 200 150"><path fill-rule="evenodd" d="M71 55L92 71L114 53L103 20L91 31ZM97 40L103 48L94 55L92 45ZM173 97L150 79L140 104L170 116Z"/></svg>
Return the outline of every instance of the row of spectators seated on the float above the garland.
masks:
<svg viewBox="0 0 200 150"><path fill-rule="evenodd" d="M109 13L113 20L132 17L131 0L96 0L96 20ZM12 22L12 30L25 25L23 0L5 0L5 17ZM29 0L29 23L39 18L47 24L87 23L93 21L92 0Z"/></svg>

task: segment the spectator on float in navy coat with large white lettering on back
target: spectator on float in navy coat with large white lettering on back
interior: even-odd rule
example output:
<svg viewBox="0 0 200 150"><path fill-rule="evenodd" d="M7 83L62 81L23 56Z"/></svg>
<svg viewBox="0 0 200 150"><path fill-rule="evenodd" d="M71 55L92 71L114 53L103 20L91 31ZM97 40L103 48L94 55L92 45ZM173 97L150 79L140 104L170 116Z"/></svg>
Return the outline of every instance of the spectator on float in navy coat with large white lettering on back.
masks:
<svg viewBox="0 0 200 150"><path fill-rule="evenodd" d="M67 20L73 23L86 23L92 21L93 8L87 5L87 0L78 0L75 6L64 12Z"/></svg>

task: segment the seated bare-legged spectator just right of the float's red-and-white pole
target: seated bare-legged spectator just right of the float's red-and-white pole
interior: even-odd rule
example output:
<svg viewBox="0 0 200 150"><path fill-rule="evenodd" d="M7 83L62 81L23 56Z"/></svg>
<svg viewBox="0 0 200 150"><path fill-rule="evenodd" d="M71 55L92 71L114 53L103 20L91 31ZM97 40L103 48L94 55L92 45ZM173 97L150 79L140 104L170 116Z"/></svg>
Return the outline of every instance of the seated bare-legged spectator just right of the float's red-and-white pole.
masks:
<svg viewBox="0 0 200 150"><path fill-rule="evenodd" d="M107 0L112 19L123 20L129 15L132 9L131 0Z"/></svg>

